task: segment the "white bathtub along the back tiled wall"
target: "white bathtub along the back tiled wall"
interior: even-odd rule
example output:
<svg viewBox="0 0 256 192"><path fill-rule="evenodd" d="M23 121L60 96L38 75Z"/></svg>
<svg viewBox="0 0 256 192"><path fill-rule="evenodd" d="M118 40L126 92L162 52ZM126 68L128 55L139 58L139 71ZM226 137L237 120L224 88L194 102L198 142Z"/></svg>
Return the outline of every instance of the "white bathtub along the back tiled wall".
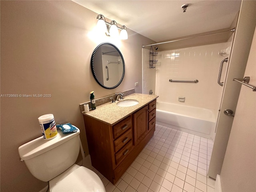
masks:
<svg viewBox="0 0 256 192"><path fill-rule="evenodd" d="M212 109L156 102L156 124L212 139L216 118Z"/></svg>

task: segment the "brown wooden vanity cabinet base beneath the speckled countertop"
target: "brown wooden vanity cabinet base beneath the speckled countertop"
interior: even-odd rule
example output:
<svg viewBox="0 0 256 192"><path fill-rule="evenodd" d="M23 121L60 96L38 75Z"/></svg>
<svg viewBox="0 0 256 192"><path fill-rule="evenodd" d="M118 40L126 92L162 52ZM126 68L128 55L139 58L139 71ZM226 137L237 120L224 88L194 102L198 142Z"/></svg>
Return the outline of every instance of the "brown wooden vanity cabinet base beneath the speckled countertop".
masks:
<svg viewBox="0 0 256 192"><path fill-rule="evenodd" d="M114 125L83 115L92 166L112 184L120 179L154 135L154 101Z"/></svg>

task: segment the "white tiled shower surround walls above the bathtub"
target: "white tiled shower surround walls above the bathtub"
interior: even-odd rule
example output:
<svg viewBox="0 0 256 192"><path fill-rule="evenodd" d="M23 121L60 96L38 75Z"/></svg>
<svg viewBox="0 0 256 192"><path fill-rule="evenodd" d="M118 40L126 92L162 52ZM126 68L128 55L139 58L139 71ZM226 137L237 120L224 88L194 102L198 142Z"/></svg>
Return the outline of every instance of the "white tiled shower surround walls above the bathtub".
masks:
<svg viewBox="0 0 256 192"><path fill-rule="evenodd" d="M219 53L230 50L231 42L210 44L158 52L156 68L149 69L149 50L143 50L143 93L155 87L158 101L218 110L223 87L218 85L220 62L229 56ZM221 82L228 63L224 62ZM156 76L154 76L156 72ZM156 78L155 78L156 77ZM178 83L169 80L198 80ZM185 97L179 102L178 97Z"/></svg>

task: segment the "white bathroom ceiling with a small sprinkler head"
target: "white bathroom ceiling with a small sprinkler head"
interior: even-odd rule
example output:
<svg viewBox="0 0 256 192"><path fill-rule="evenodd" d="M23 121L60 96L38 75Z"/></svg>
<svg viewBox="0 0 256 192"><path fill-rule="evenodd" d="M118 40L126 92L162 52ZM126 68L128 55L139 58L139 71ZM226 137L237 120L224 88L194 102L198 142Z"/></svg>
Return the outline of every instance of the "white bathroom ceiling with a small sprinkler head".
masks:
<svg viewBox="0 0 256 192"><path fill-rule="evenodd" d="M156 42L229 28L241 4L240 0L73 1ZM186 12L183 4L189 4Z"/></svg>

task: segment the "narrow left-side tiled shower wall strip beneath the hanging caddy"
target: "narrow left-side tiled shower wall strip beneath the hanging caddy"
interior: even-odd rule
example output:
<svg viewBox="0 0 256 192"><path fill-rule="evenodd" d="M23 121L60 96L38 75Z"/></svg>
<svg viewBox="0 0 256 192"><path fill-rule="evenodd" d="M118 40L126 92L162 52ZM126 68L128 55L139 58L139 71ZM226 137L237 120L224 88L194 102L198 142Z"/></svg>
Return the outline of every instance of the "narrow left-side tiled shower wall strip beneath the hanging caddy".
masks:
<svg viewBox="0 0 256 192"><path fill-rule="evenodd" d="M153 95L156 95L156 68L149 68L149 56L150 56L150 50L148 49L142 49L142 65L143 65L143 71L142 71L142 93L143 94L149 94L149 91L153 91ZM156 58L156 57L155 57ZM154 64L154 67L156 64Z"/></svg>

